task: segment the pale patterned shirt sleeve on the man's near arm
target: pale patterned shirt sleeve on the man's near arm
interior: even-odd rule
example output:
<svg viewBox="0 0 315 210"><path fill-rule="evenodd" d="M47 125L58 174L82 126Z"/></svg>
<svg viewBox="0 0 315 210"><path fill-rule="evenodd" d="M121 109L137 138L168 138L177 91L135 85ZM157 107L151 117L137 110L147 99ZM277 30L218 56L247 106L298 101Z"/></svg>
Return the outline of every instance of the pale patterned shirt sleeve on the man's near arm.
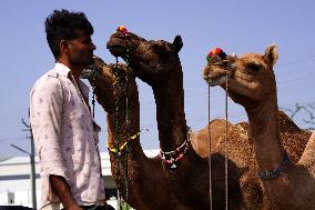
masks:
<svg viewBox="0 0 315 210"><path fill-rule="evenodd" d="M61 176L69 182L60 142L62 107L62 86L58 78L45 76L34 84L30 96L31 126L43 168L43 193L48 194L52 194L50 174Z"/></svg>

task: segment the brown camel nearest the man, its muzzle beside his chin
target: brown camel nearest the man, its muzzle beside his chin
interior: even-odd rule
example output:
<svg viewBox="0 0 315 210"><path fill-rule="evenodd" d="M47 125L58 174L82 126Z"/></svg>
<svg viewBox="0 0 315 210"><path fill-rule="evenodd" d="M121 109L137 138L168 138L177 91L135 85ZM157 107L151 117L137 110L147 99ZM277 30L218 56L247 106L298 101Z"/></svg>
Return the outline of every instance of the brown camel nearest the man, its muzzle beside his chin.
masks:
<svg viewBox="0 0 315 210"><path fill-rule="evenodd" d="M89 81L92 86L95 86L98 102L108 114L108 144L111 148L111 170L123 199L131 207L139 210L189 210L172 193L160 158L148 158L141 148L140 137L136 136L140 131L140 108L135 78L126 70L125 66L119 64L119 73L122 79L118 79L114 73L115 66L106 64L100 58L95 58L94 67L96 67L98 71L95 76L90 77ZM131 137L132 140L126 138L125 77L129 80L129 131L130 136L135 137ZM115 89L114 84L119 84L120 89ZM115 96L119 99L116 104ZM116 106L119 107L118 117ZM116 122L120 127L119 133L115 130ZM118 156L113 150L116 148L116 143L119 142L119 147L122 147L126 141L129 142L128 149L121 149L121 156ZM120 158L120 161L118 158ZM128 170L128 186L125 184L125 170Z"/></svg>

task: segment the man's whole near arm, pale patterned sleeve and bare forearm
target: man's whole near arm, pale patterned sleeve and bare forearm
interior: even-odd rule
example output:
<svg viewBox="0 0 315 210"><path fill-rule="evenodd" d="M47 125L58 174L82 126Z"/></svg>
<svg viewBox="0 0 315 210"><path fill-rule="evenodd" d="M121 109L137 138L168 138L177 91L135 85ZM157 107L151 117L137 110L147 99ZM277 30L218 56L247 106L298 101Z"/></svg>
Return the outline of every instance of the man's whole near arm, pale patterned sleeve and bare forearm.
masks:
<svg viewBox="0 0 315 210"><path fill-rule="evenodd" d="M30 98L31 126L44 172L44 201L52 201L51 198L58 196L67 210L81 210L72 197L60 147L63 108L61 83L55 77L44 78L34 86Z"/></svg>

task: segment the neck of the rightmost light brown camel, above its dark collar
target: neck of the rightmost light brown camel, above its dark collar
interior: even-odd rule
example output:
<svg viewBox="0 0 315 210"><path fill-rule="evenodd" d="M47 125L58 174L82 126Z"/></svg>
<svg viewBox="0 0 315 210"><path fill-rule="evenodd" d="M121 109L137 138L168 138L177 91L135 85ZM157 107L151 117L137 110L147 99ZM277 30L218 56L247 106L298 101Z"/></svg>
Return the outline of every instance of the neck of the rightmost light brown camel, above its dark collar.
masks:
<svg viewBox="0 0 315 210"><path fill-rule="evenodd" d="M278 168L283 161L284 148L280 137L276 98L246 109L246 112L258 171Z"/></svg>

